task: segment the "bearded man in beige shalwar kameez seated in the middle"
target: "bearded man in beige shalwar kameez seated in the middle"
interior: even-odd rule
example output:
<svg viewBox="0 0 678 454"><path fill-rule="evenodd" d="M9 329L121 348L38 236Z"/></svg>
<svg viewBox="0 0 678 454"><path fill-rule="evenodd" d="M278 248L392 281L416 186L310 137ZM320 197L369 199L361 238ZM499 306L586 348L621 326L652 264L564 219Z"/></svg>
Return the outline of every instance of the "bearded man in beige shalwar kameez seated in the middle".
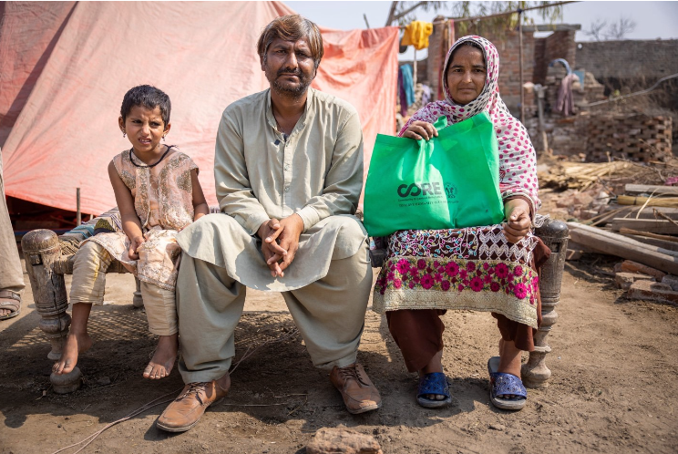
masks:
<svg viewBox="0 0 678 454"><path fill-rule="evenodd" d="M353 216L363 185L355 109L309 88L323 38L300 15L278 17L258 53L271 88L221 118L214 159L220 214L177 237L180 373L186 387L158 427L184 431L231 386L233 331L245 287L280 291L313 365L351 413L381 406L356 364L372 285L367 233Z"/></svg>

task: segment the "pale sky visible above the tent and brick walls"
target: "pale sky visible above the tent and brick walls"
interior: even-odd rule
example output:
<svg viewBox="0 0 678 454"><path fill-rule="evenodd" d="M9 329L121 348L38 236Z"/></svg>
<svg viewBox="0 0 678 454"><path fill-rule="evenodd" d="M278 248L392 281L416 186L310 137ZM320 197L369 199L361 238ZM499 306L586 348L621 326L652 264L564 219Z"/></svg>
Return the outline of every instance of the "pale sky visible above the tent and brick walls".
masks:
<svg viewBox="0 0 678 454"><path fill-rule="evenodd" d="M390 1L313 1L313 2L284 2L300 15L311 19L319 26L352 30L366 28L363 14L367 16L370 26L375 28L384 26ZM453 4L454 2L448 2ZM678 38L678 1L665 2L625 2L584 1L563 5L563 24L580 24L582 31L577 32L577 41L590 41L583 30L591 27L596 19L606 20L608 23L619 21L620 17L630 18L636 23L635 30L627 39L676 39ZM451 15L451 8L443 10L442 15ZM437 13L419 11L417 19L431 21ZM542 20L534 16L535 23ZM426 57L426 51L417 53L417 59ZM409 51L401 59L412 59Z"/></svg>

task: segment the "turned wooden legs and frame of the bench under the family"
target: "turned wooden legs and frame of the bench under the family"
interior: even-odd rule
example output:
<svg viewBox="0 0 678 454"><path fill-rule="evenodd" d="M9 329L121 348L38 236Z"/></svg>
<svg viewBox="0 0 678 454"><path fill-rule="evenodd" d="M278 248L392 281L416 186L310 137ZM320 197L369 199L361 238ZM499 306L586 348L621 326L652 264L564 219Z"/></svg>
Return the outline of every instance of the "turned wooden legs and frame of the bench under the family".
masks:
<svg viewBox="0 0 678 454"><path fill-rule="evenodd" d="M105 214L111 215L115 212ZM99 221L100 218L95 218L60 237L50 230L34 230L28 232L21 240L36 310L42 317L39 326L52 345L51 351L47 354L50 360L55 361L61 357L62 346L71 323L71 317L66 312L68 298L64 275L73 273L73 258L77 248L89 236L88 233L94 232L94 227L100 223ZM539 280L542 322L539 332L535 335L535 351L529 353L528 362L522 366L521 371L525 386L533 388L548 387L551 376L545 362L547 354L551 351L546 338L558 319L555 307L560 303L560 284L567 252L568 227L563 222L547 220L535 233L549 246L551 255L542 268ZM373 267L381 267L385 251L371 250L370 258ZM114 261L108 267L107 273L128 273L128 271L121 263ZM143 304L139 281L137 290L132 295L132 304L136 307ZM57 394L66 394L80 387L82 373L75 367L66 375L52 374L50 381Z"/></svg>

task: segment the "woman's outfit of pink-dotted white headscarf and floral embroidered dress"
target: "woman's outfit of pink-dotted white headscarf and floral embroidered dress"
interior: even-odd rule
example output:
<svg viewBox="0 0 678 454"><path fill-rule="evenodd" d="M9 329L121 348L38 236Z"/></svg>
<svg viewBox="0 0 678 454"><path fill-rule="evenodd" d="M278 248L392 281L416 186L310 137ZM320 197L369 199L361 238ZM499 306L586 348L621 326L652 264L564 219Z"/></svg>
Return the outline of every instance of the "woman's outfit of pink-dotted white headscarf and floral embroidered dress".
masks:
<svg viewBox="0 0 678 454"><path fill-rule="evenodd" d="M478 98L461 106L454 102L443 77L446 99L419 109L413 121L434 123L446 116L449 124L486 111L494 124L499 148L499 191L504 201L519 197L534 215L539 208L536 153L528 132L508 112L499 97L498 51L481 36L459 38L449 49L470 41L483 52L485 86ZM437 231L400 231L386 239L387 256L375 284L375 312L400 309L471 309L498 318L499 329L518 329L531 344L531 331L540 323L539 260L548 252L531 232L516 244L506 240L501 224ZM546 250L546 252L544 251ZM518 325L521 325L520 328ZM508 336L507 336L508 338ZM526 344L522 344L526 345Z"/></svg>

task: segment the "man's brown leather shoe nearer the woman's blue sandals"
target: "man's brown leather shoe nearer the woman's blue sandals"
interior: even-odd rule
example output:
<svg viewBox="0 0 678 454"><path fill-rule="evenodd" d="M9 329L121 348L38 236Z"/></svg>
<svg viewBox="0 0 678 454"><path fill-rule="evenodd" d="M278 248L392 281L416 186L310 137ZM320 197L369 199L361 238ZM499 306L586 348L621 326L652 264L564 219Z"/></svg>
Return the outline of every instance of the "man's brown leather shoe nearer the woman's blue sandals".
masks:
<svg viewBox="0 0 678 454"><path fill-rule="evenodd" d="M357 415L381 407L381 397L375 385L359 364L339 368L334 366L330 380L342 397L349 413Z"/></svg>

